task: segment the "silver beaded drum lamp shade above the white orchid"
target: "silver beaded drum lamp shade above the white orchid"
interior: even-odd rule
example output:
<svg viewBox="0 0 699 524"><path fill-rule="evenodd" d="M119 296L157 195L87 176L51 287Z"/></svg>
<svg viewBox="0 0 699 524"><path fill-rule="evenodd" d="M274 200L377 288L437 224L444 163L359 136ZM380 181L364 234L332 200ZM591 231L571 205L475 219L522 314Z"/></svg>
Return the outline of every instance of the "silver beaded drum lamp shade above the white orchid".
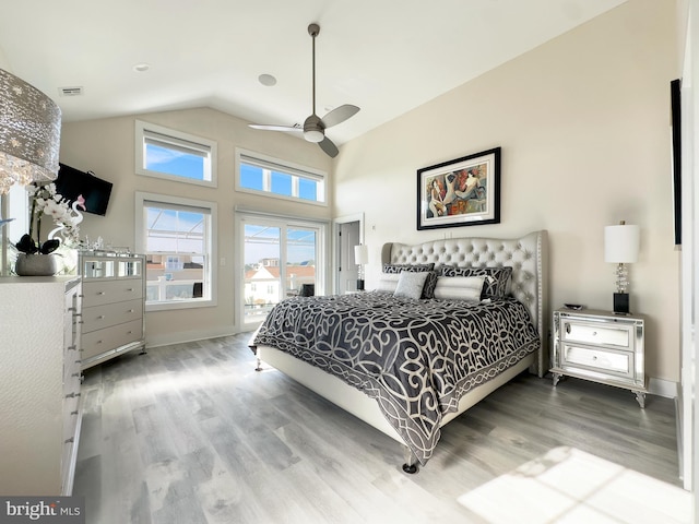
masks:
<svg viewBox="0 0 699 524"><path fill-rule="evenodd" d="M0 69L0 194L14 183L56 179L60 132L54 100Z"/></svg>

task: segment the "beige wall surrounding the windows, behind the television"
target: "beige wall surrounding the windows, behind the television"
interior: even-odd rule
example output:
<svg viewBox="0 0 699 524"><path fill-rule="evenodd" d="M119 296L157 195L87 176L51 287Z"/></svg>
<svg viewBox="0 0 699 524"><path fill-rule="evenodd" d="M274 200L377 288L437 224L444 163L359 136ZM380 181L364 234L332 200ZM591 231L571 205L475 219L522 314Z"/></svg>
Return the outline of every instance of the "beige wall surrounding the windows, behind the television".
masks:
<svg viewBox="0 0 699 524"><path fill-rule="evenodd" d="M218 187L216 189L143 177L134 171L134 120L143 120L218 144ZM331 170L331 159L316 144L277 132L251 130L246 122L212 109L193 109L84 122L64 122L61 130L61 162L114 183L107 215L84 215L81 236L94 240L102 236L111 246L134 249L134 193L164 193L218 204L218 305L178 311L146 313L149 345L199 340L239 331L236 325L239 297L236 293L235 266L237 236L234 230L234 207L304 215L330 219L327 207L271 200L234 190L235 147L263 153L276 158L320 169ZM332 200L332 198L331 198ZM225 265L221 265L225 259Z"/></svg>

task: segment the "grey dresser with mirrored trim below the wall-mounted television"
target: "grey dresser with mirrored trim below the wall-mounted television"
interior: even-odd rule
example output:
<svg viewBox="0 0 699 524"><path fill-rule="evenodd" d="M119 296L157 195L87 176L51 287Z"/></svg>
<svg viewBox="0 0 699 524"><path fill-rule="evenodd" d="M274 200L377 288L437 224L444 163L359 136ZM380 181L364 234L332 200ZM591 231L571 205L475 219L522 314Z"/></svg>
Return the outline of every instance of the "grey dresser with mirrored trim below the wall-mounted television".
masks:
<svg viewBox="0 0 699 524"><path fill-rule="evenodd" d="M79 254L83 277L82 369L145 347L145 257Z"/></svg>

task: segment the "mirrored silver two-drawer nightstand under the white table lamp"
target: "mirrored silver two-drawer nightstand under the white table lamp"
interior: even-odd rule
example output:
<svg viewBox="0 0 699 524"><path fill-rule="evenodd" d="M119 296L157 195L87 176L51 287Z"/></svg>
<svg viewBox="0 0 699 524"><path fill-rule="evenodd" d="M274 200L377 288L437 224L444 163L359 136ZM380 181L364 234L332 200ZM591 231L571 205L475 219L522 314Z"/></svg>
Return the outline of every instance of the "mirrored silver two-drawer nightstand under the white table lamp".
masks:
<svg viewBox="0 0 699 524"><path fill-rule="evenodd" d="M567 374L626 388L645 407L644 323L638 314L554 311L554 385Z"/></svg>

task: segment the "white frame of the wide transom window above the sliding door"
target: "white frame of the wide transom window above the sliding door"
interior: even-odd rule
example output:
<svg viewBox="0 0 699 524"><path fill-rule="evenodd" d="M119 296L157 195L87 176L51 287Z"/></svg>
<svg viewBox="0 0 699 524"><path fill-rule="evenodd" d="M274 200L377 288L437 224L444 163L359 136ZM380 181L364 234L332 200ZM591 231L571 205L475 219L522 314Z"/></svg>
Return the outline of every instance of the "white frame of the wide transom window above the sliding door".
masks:
<svg viewBox="0 0 699 524"><path fill-rule="evenodd" d="M263 181L263 187L265 189L250 189L244 188L240 183L241 177L241 164L253 165L258 167L262 167L263 169L268 169L269 172L265 175L265 180ZM294 164L287 160L282 160L280 158L274 158L269 155L263 155L262 153L257 153L253 151L244 150L240 147L236 147L235 152L235 190L241 193L251 193L258 195L264 195L272 199L286 200L291 202L298 202L310 205L319 205L322 207L328 207L328 174L325 171L321 171L320 169L313 169L311 167L301 166L299 164ZM317 190L318 193L321 194L322 200L308 200L301 199L298 195L292 194L286 195L282 193L274 193L271 190L271 170L274 169L277 172L282 172L285 175L289 175L292 177L292 192L299 192L299 179L308 179L320 184L320 190Z"/></svg>

